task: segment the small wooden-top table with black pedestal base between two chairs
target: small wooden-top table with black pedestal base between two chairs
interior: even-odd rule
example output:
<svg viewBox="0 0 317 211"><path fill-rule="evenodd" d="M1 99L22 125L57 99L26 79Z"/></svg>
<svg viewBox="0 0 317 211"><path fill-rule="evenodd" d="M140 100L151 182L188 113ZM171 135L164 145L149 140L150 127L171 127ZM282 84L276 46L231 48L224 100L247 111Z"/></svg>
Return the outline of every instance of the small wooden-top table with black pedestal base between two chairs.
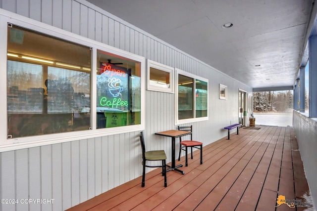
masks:
<svg viewBox="0 0 317 211"><path fill-rule="evenodd" d="M176 130L176 129L171 129L171 130L155 133L156 135L162 135L162 136L167 136L172 138L172 165L171 166L166 165L167 167L169 167L169 169L166 169L166 171L176 170L182 174L185 174L184 171L177 169L179 167L183 167L182 164L175 166L175 139L184 135L189 135L191 133L192 133L191 131L183 131L183 130Z"/></svg>

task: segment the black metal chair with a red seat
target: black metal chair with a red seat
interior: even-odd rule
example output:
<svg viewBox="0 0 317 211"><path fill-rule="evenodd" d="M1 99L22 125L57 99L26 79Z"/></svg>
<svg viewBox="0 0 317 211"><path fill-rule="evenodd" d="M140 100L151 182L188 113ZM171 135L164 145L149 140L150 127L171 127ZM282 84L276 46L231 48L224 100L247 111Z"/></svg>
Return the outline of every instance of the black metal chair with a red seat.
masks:
<svg viewBox="0 0 317 211"><path fill-rule="evenodd" d="M178 126L178 130L191 131L193 132L193 126ZM203 143L199 141L193 141L193 133L190 134L190 140L182 141L182 138L179 137L179 156L178 161L180 160L180 153L182 150L185 151L185 163L186 167L188 166L187 161L187 147L191 148L191 158L193 159L193 148L200 149L200 164L203 164Z"/></svg>

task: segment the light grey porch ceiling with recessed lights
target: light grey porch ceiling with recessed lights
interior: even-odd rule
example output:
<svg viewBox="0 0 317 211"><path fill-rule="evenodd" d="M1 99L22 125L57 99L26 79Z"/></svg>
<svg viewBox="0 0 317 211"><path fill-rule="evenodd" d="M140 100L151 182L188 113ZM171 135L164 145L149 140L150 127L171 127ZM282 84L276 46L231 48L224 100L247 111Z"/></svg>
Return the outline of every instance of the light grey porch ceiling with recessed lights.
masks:
<svg viewBox="0 0 317 211"><path fill-rule="evenodd" d="M88 1L253 88L294 84L315 19L315 0Z"/></svg>

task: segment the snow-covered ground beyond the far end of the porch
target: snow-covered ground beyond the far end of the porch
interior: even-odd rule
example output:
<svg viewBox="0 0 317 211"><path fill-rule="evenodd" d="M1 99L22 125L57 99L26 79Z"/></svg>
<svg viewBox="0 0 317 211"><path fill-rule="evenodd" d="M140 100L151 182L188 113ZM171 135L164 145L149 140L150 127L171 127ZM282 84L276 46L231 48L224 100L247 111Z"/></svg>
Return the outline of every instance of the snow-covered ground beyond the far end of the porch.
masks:
<svg viewBox="0 0 317 211"><path fill-rule="evenodd" d="M293 126L293 113L275 114L275 113L254 113L257 125L265 126Z"/></svg>

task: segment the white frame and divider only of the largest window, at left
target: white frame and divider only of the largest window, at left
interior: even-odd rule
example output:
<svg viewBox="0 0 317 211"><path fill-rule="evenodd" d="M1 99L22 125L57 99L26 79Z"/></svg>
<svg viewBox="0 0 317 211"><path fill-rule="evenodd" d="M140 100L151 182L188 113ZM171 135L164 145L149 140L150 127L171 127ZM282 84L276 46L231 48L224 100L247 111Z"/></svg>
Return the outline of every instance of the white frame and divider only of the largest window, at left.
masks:
<svg viewBox="0 0 317 211"><path fill-rule="evenodd" d="M23 21L21 21L23 20ZM8 11L0 11L0 39L5 42L0 42L0 68L7 70L7 26L8 23L17 25L29 30L40 32L49 36L53 36L65 41L75 42L77 44L89 46L92 48L92 62L91 70L97 70L97 49L132 59L140 62L141 69L141 124L133 126L111 127L97 129L97 112L96 112L96 97L97 97L97 73L91 72L91 128L81 131L69 131L53 134L44 134L36 136L26 136L7 139L7 112L0 112L0 119L5 121L4 125L0 127L0 152L23 149L29 147L43 146L54 143L62 143L74 140L89 139L94 137L107 136L112 134L134 132L144 130L145 128L145 57L139 56L107 44L97 42L77 34L67 32L62 29L55 28L53 26L32 20L21 15L13 14ZM0 77L2 79L7 78L7 71L1 71ZM6 93L7 83L0 84L1 93ZM7 95L0 95L1 108L7 108Z"/></svg>

